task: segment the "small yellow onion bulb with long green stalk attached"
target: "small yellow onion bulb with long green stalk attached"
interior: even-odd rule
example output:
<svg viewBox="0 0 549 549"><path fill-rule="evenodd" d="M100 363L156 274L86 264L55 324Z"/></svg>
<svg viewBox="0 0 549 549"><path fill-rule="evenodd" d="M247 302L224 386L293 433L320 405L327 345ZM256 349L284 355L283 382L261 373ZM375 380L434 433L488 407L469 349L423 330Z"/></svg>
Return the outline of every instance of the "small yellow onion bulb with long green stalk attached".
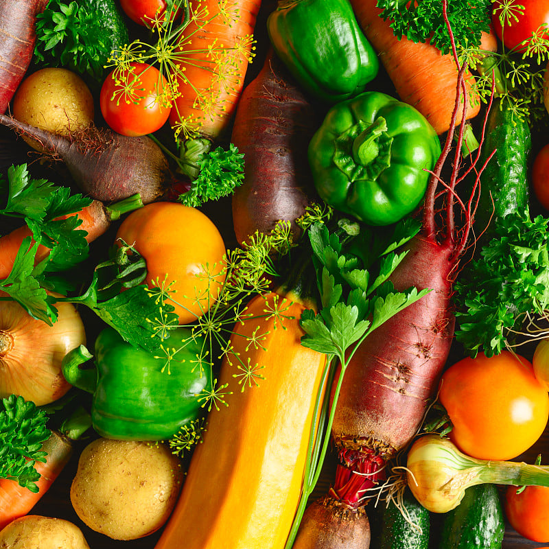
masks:
<svg viewBox="0 0 549 549"><path fill-rule="evenodd" d="M447 513L476 484L549 486L549 466L471 458L438 434L421 436L408 452L408 486L433 513Z"/></svg>

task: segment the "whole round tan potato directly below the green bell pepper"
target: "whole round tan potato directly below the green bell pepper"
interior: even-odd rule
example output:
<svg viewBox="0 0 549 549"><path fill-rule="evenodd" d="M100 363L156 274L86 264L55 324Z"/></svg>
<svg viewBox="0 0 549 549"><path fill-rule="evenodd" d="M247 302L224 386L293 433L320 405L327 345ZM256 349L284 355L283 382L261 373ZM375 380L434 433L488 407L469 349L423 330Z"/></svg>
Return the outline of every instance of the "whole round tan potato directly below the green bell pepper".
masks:
<svg viewBox="0 0 549 549"><path fill-rule="evenodd" d="M182 482L179 460L165 445L97 439L80 455L71 502L92 530L137 539L167 521Z"/></svg>

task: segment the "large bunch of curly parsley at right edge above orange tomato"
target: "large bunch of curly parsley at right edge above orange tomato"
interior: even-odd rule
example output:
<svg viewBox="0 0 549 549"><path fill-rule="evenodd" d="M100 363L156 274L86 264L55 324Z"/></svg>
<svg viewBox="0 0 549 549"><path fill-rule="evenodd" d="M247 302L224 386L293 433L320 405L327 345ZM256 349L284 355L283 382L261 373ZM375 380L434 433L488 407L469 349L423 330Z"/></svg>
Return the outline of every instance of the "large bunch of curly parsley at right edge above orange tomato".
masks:
<svg viewBox="0 0 549 549"><path fill-rule="evenodd" d="M549 220L528 211L495 222L484 246L455 285L459 327L456 339L476 355L498 354L530 314L549 303Z"/></svg>

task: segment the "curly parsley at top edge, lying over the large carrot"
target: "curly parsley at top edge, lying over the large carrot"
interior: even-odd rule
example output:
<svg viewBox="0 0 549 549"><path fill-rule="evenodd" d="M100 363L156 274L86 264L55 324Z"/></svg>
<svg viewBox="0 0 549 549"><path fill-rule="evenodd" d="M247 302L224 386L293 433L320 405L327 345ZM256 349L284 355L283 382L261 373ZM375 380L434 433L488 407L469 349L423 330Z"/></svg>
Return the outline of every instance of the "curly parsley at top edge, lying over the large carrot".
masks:
<svg viewBox="0 0 549 549"><path fill-rule="evenodd" d="M480 33L488 32L492 0L452 0L448 19L457 45L480 45ZM436 45L443 53L451 50L450 37L443 19L440 0L377 0L380 15L390 20L397 38Z"/></svg>

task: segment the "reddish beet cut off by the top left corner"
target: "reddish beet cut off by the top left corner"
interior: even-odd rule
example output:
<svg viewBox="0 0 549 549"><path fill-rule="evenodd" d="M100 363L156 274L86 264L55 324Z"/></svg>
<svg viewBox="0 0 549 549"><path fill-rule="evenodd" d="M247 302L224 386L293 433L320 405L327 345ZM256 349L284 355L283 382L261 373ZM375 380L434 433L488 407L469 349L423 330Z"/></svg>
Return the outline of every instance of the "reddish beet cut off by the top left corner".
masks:
<svg viewBox="0 0 549 549"><path fill-rule="evenodd" d="M0 113L29 68L36 41L36 15L47 0L0 0Z"/></svg>

